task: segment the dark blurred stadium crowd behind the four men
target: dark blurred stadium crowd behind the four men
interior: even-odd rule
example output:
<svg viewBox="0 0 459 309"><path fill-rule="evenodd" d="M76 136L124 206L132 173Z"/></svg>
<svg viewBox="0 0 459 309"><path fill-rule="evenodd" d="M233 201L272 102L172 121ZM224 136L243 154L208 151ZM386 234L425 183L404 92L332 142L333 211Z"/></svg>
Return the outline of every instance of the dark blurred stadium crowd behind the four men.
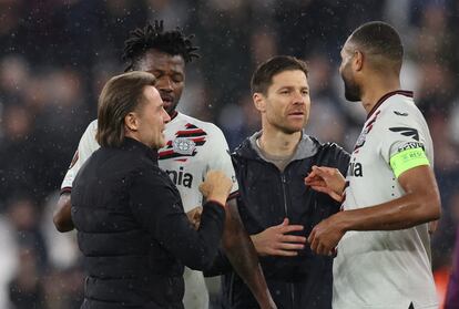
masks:
<svg viewBox="0 0 459 309"><path fill-rule="evenodd" d="M309 63L307 131L351 150L365 120L344 100L339 50L358 24L385 20L406 49L402 85L415 91L434 138L442 217L432 265L445 288L459 223L459 1L453 0L0 0L0 308L79 308L75 235L52 212L99 91L122 72L130 30L164 19L195 33L178 110L216 123L230 146L259 126L249 94L257 63Z"/></svg>

